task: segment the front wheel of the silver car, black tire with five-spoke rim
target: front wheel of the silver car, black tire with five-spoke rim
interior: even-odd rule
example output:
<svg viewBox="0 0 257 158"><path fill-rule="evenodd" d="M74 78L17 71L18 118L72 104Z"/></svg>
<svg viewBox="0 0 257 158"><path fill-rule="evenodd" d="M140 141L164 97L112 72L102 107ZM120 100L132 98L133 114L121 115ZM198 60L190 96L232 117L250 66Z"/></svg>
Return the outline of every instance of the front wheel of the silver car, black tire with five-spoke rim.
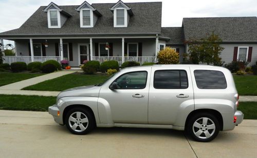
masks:
<svg viewBox="0 0 257 158"><path fill-rule="evenodd" d="M80 118L78 117L79 115ZM87 134L95 127L95 119L93 114L83 108L74 108L69 110L65 116L65 122L67 129L73 134Z"/></svg>

